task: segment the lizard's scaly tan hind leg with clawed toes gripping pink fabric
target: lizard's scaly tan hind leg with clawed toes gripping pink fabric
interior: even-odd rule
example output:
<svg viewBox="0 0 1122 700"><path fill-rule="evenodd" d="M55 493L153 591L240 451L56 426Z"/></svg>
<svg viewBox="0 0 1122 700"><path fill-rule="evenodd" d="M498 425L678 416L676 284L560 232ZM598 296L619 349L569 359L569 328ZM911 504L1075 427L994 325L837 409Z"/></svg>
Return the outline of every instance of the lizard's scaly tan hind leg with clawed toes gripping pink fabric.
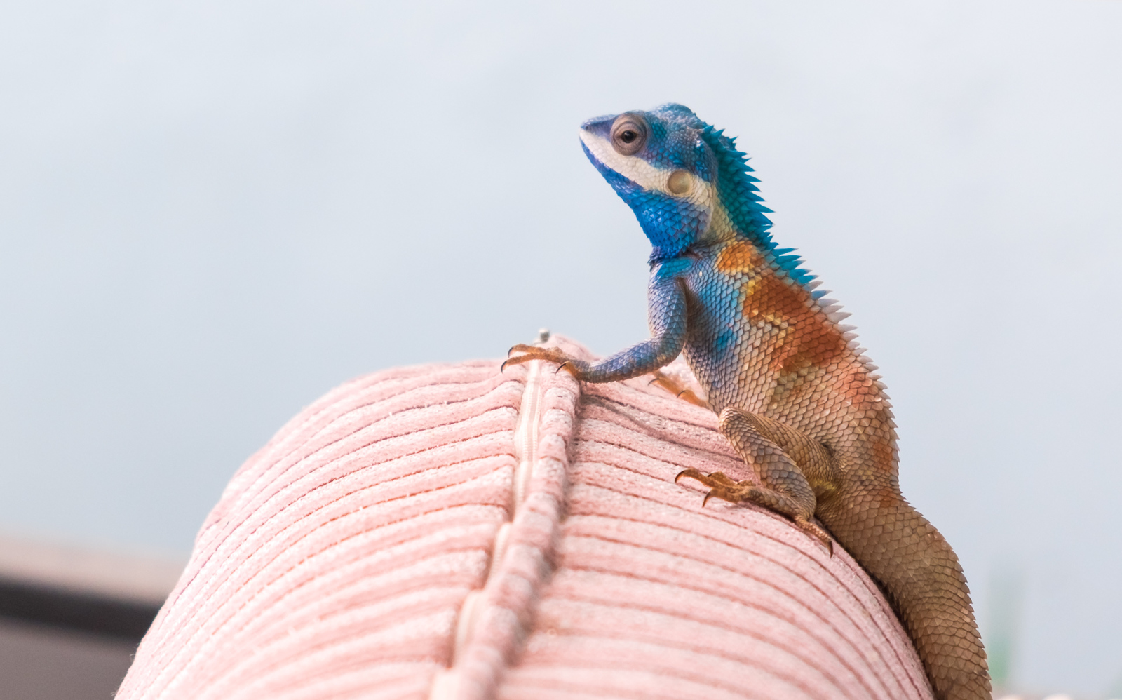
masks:
<svg viewBox="0 0 1122 700"><path fill-rule="evenodd" d="M778 435L773 422L737 408L725 408L720 414L720 432L732 443L741 458L752 467L760 483L749 480L733 481L721 472L705 475L696 469L687 469L675 481L688 477L709 487L709 498L720 498L732 503L754 503L794 521L795 526L813 536L830 553L834 542L821 526L811 518L817 507L815 490L799 464L772 438L798 436L809 440L788 429L792 435ZM765 435L769 433L769 435ZM703 505L703 503L702 503Z"/></svg>

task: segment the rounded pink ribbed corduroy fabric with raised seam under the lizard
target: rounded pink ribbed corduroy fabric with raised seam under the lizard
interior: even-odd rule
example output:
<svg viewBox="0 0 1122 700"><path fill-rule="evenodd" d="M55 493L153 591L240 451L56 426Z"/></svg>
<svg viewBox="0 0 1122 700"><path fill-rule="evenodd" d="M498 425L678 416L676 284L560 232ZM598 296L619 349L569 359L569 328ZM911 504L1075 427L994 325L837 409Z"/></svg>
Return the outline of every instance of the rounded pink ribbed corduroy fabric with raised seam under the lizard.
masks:
<svg viewBox="0 0 1122 700"><path fill-rule="evenodd" d="M498 366L362 377L282 429L117 697L931 698L840 547L673 482L751 477L712 413Z"/></svg>

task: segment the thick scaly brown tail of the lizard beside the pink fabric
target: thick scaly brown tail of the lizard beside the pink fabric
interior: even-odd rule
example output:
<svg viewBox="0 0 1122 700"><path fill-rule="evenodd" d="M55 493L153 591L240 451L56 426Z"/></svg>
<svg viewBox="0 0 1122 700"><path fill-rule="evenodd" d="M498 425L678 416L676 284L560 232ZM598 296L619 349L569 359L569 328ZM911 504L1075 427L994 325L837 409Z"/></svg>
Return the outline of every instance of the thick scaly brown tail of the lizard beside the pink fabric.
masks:
<svg viewBox="0 0 1122 700"><path fill-rule="evenodd" d="M831 500L820 504L819 518L888 592L935 697L990 700L985 650L966 577L939 531L895 488Z"/></svg>

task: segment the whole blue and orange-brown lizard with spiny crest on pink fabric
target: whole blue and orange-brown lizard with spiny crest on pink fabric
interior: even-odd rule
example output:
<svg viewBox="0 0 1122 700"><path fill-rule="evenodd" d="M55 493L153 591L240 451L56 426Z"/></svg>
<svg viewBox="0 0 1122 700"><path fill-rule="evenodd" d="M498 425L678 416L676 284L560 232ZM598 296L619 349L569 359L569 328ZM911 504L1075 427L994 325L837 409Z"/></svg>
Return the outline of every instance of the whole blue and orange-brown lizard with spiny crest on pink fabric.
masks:
<svg viewBox="0 0 1122 700"><path fill-rule="evenodd" d="M888 595L935 697L990 698L963 569L901 495L895 423L877 367L842 323L849 314L794 249L772 239L772 210L747 155L673 103L590 119L579 135L651 242L651 338L599 361L517 344L504 367L543 360L605 383L657 372L684 353L720 432L757 480L696 469L674 480L705 485L705 501L776 512L830 554L836 540Z"/></svg>

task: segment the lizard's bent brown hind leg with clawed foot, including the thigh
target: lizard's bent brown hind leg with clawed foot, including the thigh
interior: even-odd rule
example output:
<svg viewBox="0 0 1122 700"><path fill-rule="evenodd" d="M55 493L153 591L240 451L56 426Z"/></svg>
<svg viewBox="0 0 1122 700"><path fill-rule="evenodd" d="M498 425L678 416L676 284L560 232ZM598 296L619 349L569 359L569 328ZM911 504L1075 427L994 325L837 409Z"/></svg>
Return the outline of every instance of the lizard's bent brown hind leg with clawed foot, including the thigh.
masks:
<svg viewBox="0 0 1122 700"><path fill-rule="evenodd" d="M719 427L741 459L753 468L760 483L733 481L721 472L705 475L696 469L682 471L674 480L688 477L705 483L710 488L706 500L714 497L748 501L785 515L833 553L829 533L811 519L818 505L811 479L820 490L831 488L826 448L794 429L739 408L721 411Z"/></svg>

